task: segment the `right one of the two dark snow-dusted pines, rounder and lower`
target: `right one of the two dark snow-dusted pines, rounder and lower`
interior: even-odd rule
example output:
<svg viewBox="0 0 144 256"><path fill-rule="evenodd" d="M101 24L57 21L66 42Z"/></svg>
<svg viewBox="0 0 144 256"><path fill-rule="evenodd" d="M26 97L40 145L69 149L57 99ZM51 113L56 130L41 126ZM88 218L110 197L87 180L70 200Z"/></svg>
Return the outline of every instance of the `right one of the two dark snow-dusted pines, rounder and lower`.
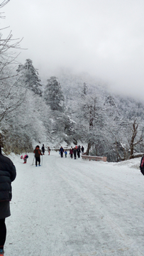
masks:
<svg viewBox="0 0 144 256"><path fill-rule="evenodd" d="M64 96L62 94L60 82L57 81L55 76L48 79L48 84L45 87L45 102L50 106L51 110L62 112Z"/></svg>

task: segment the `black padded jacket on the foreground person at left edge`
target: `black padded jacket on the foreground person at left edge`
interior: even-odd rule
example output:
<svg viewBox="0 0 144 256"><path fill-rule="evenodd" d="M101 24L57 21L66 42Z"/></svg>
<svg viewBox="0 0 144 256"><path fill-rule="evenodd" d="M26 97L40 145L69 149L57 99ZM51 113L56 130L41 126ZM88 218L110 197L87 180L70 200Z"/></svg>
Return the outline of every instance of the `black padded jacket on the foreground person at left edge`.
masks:
<svg viewBox="0 0 144 256"><path fill-rule="evenodd" d="M0 201L11 201L11 181L16 178L16 167L11 159L0 154Z"/></svg>

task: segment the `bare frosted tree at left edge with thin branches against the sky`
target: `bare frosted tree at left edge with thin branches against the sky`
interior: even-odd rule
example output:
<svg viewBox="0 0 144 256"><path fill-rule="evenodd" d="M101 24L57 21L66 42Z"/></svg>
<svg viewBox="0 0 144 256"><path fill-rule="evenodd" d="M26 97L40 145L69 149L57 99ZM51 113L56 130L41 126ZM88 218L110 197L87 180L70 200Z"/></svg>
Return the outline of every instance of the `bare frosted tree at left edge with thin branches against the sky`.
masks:
<svg viewBox="0 0 144 256"><path fill-rule="evenodd" d="M2 1L2 8L9 1ZM0 13L1 18L1 13ZM14 40L11 32L6 38L0 33L0 122L9 112L23 102L24 91L21 85L18 87L19 78L13 71L16 65L16 54L13 49L19 49L21 41Z"/></svg>

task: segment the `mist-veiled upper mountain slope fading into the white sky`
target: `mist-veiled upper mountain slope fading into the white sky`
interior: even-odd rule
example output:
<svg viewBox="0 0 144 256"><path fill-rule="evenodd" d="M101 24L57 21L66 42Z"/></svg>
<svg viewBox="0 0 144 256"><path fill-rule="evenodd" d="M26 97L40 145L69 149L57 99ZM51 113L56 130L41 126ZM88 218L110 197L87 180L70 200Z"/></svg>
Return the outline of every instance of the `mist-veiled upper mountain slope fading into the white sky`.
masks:
<svg viewBox="0 0 144 256"><path fill-rule="evenodd" d="M82 95L82 87L85 82L89 95L95 93L97 97L101 97L103 104L107 102L108 105L115 107L116 111L124 114L128 119L133 117L141 117L144 119L144 103L142 101L135 100L133 97L128 97L128 95L123 96L113 93L113 91L109 90L109 87L106 86L106 83L87 73L81 73L79 75L60 73L59 76L57 76L57 80L62 86L66 103L75 100L79 102L79 98Z"/></svg>

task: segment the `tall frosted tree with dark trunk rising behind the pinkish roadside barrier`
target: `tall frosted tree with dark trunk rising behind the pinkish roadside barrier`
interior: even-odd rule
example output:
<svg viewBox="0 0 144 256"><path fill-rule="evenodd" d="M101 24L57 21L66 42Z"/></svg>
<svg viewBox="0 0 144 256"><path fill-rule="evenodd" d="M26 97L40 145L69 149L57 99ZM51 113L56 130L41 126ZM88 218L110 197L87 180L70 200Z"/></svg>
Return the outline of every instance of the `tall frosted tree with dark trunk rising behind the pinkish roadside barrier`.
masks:
<svg viewBox="0 0 144 256"><path fill-rule="evenodd" d="M77 129L80 131L82 140L87 142L87 154L91 146L101 137L103 126L100 97L96 93L91 95L88 91L86 94L82 93L77 105Z"/></svg>

